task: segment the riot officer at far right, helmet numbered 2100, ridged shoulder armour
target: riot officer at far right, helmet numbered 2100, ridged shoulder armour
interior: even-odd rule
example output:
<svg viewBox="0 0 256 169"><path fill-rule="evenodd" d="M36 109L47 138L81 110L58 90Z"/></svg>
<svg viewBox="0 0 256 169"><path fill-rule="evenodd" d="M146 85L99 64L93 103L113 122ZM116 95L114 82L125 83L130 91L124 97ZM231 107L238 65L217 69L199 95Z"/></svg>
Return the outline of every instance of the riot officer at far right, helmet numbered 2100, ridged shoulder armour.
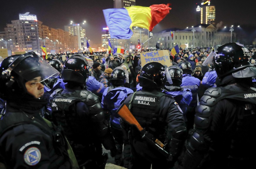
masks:
<svg viewBox="0 0 256 169"><path fill-rule="evenodd" d="M206 90L195 115L184 168L252 168L256 137L256 68L242 44L227 43L206 58L218 75Z"/></svg>

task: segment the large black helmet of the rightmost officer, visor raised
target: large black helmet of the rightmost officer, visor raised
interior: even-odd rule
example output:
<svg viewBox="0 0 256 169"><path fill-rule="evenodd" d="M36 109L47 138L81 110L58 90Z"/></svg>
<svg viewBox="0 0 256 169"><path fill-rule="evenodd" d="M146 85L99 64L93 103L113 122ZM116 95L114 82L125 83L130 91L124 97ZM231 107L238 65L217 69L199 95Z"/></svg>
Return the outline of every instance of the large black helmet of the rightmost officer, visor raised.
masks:
<svg viewBox="0 0 256 169"><path fill-rule="evenodd" d="M239 43L227 43L213 49L204 64L213 63L218 77L232 73L233 77L245 78L256 76L256 68L251 64L250 51ZM205 63L206 62L206 63Z"/></svg>

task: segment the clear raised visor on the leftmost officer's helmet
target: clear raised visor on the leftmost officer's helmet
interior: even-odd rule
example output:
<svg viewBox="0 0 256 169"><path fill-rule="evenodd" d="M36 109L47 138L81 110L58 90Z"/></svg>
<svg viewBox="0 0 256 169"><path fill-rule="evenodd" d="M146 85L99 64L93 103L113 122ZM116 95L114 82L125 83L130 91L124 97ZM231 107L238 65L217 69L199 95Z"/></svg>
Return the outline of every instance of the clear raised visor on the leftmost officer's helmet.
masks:
<svg viewBox="0 0 256 169"><path fill-rule="evenodd" d="M17 63L16 60L20 59L22 60L18 61ZM58 70L53 68L50 64L48 64L37 55L23 55L16 60L9 65L8 69L14 71L16 74L27 81L40 76L42 78L40 82L43 82L50 77L58 77L60 74Z"/></svg>

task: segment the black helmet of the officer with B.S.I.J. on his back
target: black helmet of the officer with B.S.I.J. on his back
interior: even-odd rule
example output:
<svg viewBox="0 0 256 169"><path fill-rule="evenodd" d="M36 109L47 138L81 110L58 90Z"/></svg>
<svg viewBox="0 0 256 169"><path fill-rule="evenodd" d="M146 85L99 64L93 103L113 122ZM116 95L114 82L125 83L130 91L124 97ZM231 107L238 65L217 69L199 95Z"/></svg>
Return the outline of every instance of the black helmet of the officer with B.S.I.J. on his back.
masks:
<svg viewBox="0 0 256 169"><path fill-rule="evenodd" d="M166 81L172 84L167 66L158 62L150 62L143 66L138 76L141 87L148 89L163 88Z"/></svg>

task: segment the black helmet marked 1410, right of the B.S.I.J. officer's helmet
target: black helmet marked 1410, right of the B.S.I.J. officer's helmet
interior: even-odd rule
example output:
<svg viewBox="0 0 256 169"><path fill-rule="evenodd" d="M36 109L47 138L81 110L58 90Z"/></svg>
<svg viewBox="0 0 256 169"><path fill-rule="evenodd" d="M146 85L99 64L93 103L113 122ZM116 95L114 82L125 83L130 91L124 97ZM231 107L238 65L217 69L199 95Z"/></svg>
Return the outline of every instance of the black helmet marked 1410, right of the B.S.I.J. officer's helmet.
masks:
<svg viewBox="0 0 256 169"><path fill-rule="evenodd" d="M172 65L168 67L169 74L172 78L172 84L166 82L166 86L180 86L182 84L183 71L179 66Z"/></svg>

